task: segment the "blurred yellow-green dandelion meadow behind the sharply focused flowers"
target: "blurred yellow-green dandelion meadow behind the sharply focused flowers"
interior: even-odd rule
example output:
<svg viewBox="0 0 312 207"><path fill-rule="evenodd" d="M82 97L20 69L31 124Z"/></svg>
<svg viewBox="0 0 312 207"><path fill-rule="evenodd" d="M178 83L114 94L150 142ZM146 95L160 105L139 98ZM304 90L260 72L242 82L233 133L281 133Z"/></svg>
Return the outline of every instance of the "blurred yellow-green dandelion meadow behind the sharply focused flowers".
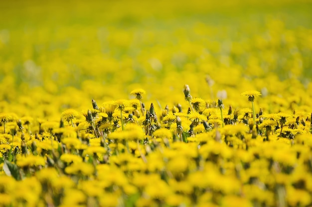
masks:
<svg viewBox="0 0 312 207"><path fill-rule="evenodd" d="M311 11L311 0L1 1L0 109L61 111L136 88L173 104L184 84L203 99L294 81L310 91Z"/></svg>

